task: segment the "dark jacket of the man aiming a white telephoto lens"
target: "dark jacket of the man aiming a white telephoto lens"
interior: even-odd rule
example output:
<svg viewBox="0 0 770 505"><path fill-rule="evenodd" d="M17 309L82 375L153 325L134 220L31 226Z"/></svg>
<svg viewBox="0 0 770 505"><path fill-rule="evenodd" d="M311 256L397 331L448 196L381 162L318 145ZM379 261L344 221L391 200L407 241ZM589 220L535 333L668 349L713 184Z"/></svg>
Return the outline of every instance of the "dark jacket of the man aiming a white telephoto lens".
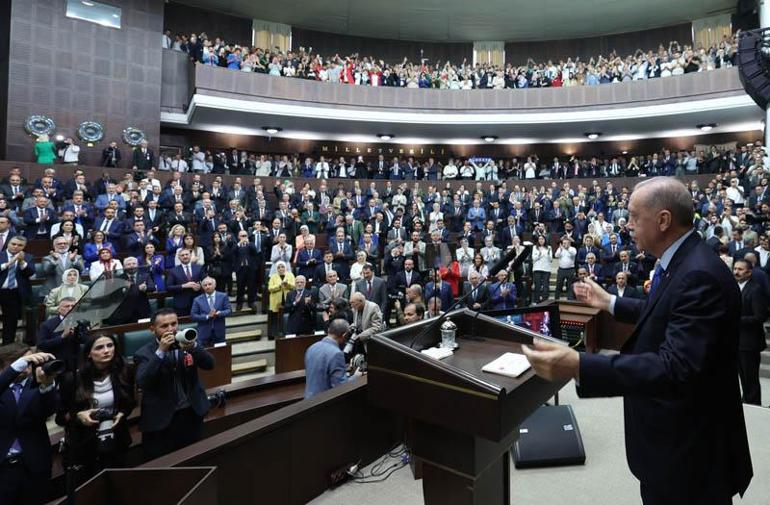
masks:
<svg viewBox="0 0 770 505"><path fill-rule="evenodd" d="M136 385L142 389L142 416L139 418L139 429L142 432L160 431L166 428L176 411L176 391L174 376L187 394L190 406L201 418L209 411L209 401L206 391L198 378L198 368L212 370L214 357L200 345L190 352L192 366L184 365L181 350L169 351L160 359L155 351L158 343L152 341L141 347L134 354L136 365ZM178 354L178 359L175 359Z"/></svg>

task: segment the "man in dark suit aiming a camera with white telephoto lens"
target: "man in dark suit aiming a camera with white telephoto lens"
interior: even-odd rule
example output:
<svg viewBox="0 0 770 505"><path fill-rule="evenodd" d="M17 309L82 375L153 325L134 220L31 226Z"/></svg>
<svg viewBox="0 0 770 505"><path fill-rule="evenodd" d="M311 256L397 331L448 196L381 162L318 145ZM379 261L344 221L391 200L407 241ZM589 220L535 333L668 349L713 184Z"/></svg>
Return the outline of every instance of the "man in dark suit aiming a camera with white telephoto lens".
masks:
<svg viewBox="0 0 770 505"><path fill-rule="evenodd" d="M134 355L136 385L142 389L142 448L155 459L197 442L209 410L198 369L212 370L214 357L198 342L177 344L179 318L173 309L152 317L155 340Z"/></svg>

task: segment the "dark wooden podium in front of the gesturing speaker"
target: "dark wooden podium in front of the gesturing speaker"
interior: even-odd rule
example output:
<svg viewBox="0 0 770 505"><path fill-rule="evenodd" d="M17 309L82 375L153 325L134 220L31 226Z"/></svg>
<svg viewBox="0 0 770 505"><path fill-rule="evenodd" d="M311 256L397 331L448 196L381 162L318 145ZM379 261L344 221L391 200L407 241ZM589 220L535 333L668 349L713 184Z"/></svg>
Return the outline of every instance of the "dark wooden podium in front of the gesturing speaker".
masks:
<svg viewBox="0 0 770 505"><path fill-rule="evenodd" d="M438 345L438 327L415 341L432 320L370 339L368 399L411 420L407 443L422 463L427 505L508 505L518 426L566 381L548 382L532 369L517 378L482 372L540 335L468 309L448 318L459 348L441 361L419 352Z"/></svg>

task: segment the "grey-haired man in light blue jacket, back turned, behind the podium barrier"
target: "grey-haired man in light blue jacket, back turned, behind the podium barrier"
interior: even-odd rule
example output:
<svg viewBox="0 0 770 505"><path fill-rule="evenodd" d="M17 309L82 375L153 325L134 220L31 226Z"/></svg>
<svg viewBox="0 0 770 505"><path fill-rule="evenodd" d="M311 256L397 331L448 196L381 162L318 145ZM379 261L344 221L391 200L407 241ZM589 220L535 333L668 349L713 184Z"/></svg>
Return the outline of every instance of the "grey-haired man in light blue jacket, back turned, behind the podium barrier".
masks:
<svg viewBox="0 0 770 505"><path fill-rule="evenodd" d="M328 335L305 351L305 398L339 386L360 376L347 375L345 355L340 347L345 343L348 322L335 319L329 323Z"/></svg>

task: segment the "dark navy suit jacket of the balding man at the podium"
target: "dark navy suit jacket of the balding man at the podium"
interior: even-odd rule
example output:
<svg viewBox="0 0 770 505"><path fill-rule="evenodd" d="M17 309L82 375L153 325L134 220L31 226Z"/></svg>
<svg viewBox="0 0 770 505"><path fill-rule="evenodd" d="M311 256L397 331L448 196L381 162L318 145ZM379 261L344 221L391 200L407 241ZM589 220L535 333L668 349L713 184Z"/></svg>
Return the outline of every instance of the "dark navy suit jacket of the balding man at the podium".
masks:
<svg viewBox="0 0 770 505"><path fill-rule="evenodd" d="M621 354L580 355L578 393L625 397L631 472L672 502L726 500L751 480L736 379L740 304L729 269L692 234L649 300L617 300L616 319L636 324Z"/></svg>

